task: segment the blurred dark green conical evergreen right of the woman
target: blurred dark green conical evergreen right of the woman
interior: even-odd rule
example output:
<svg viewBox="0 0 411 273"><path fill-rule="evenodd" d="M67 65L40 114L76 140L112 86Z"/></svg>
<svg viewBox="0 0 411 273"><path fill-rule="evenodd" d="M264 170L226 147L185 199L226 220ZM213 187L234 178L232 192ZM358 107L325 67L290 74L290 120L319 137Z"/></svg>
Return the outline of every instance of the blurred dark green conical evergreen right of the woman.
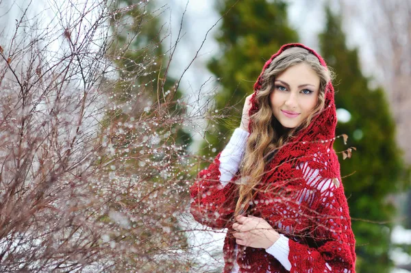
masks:
<svg viewBox="0 0 411 273"><path fill-rule="evenodd" d="M319 36L321 53L336 71L336 107L351 114L349 122L338 122L336 134L349 135L348 145L357 148L351 159L340 157L356 235L357 269L360 273L386 273L392 265L388 251L396 213L388 196L403 187L395 122L384 90L370 88L370 79L360 69L358 51L347 48L340 16L327 8L326 17L325 31ZM335 142L334 148L338 152L347 147Z"/></svg>

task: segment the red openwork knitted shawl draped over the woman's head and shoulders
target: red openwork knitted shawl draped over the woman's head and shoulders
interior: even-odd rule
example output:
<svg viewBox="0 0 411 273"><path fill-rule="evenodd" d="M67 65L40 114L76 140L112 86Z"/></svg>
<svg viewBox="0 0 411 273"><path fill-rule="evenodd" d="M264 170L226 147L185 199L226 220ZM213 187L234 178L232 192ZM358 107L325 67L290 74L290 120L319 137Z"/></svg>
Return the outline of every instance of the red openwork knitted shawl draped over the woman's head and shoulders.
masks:
<svg viewBox="0 0 411 273"><path fill-rule="evenodd" d="M286 44L264 64L264 71L272 60L289 47ZM258 111L255 96L261 88L261 77L251 96L251 114ZM333 149L336 128L334 88L327 84L325 109L313 118L308 128L297 133L288 144L266 164L266 173L258 184L251 213L264 218L273 228L289 238L290 272L355 273L355 239L343 183L340 164ZM250 120L249 131L253 130ZM262 248L240 248L234 257L235 238L232 237L234 208L238 198L236 183L223 187L219 182L219 157L201 170L190 187L192 215L198 222L214 229L228 228L224 243L224 272L232 270L236 259L240 272L288 272L277 259ZM231 182L238 179L234 176Z"/></svg>

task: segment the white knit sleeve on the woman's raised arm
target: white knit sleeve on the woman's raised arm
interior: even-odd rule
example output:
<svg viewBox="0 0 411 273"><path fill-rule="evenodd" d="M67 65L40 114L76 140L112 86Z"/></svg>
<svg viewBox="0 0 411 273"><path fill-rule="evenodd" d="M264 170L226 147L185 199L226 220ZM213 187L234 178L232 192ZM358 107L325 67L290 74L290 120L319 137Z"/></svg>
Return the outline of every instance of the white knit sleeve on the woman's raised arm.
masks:
<svg viewBox="0 0 411 273"><path fill-rule="evenodd" d="M249 134L243 129L236 128L227 146L221 152L219 170L221 173L220 182L223 186L227 185L238 171Z"/></svg>

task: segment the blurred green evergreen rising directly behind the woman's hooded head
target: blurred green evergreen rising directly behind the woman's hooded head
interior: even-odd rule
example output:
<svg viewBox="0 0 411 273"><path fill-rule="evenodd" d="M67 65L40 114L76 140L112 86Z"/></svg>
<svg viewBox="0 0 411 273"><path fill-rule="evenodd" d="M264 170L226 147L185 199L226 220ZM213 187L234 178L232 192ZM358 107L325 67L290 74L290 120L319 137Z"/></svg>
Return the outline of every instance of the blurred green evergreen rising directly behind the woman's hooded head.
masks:
<svg viewBox="0 0 411 273"><path fill-rule="evenodd" d="M201 146L203 155L223 150L227 141L221 140L229 138L232 130L240 126L245 97L253 92L264 62L282 44L298 40L297 32L287 21L284 1L227 0L219 3L217 9L222 16L225 14L216 36L221 55L214 56L208 68L219 78L221 89L215 97L215 107L223 118L206 132L208 142Z"/></svg>

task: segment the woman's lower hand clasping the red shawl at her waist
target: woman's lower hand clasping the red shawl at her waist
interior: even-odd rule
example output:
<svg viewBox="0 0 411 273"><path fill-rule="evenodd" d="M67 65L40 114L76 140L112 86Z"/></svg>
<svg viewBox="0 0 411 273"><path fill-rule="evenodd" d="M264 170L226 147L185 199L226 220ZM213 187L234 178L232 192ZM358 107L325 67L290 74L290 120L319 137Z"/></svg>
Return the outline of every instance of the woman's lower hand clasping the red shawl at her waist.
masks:
<svg viewBox="0 0 411 273"><path fill-rule="evenodd" d="M251 248L269 248L279 238L279 233L262 218L255 216L237 216L233 224L236 243Z"/></svg>

